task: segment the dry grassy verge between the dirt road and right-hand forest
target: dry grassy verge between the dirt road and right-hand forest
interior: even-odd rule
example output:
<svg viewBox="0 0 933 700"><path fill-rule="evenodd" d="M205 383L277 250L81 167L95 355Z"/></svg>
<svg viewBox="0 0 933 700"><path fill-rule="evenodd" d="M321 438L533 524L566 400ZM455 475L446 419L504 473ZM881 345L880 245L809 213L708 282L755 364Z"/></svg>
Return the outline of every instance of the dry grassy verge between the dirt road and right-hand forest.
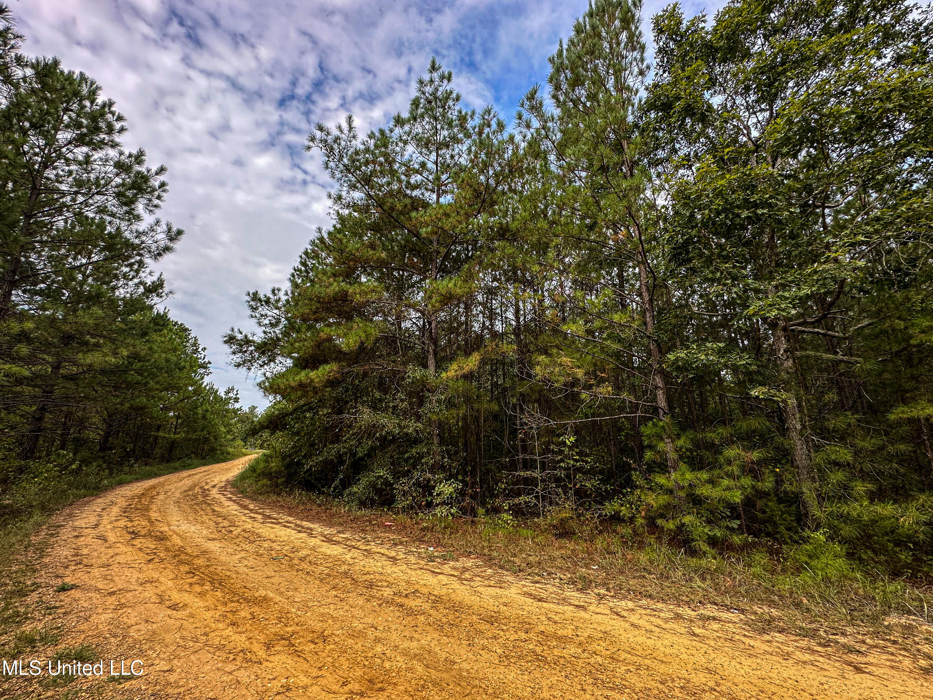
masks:
<svg viewBox="0 0 933 700"><path fill-rule="evenodd" d="M813 573L777 548L695 555L618 522L568 523L563 513L516 521L508 516L451 519L359 510L307 492L257 488L248 472L236 482L246 496L375 539L434 547L426 553L429 561L475 555L536 581L595 595L744 613L742 621L753 629L837 646L843 637L853 648L894 641L933 672L933 588L922 581L854 567Z"/></svg>

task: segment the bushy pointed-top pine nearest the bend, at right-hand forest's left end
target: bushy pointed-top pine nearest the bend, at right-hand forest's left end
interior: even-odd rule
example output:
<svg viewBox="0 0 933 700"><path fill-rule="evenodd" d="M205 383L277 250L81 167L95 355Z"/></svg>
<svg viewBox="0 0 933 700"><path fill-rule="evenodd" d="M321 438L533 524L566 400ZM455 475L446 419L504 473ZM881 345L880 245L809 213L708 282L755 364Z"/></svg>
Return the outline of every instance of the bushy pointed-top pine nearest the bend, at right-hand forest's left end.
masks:
<svg viewBox="0 0 933 700"><path fill-rule="evenodd" d="M263 335L227 336L238 366L273 370L263 383L273 394L298 404L341 395L333 410L364 432L418 443L426 428L435 470L441 371L461 349L450 334L471 323L464 302L477 291L488 220L514 167L505 123L489 108L462 109L451 81L432 61L408 113L365 138L352 117L335 131L316 127L308 148L337 183L335 225L304 251L284 295L250 295ZM282 357L290 366L279 371Z"/></svg>

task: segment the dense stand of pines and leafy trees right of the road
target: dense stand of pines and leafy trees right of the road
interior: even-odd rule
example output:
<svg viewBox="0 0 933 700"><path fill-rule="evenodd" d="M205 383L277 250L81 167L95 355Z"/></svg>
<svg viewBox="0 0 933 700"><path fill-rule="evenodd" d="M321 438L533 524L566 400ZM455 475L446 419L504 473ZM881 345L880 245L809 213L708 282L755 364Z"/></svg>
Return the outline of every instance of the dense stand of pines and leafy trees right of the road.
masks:
<svg viewBox="0 0 933 700"><path fill-rule="evenodd" d="M316 126L333 225L226 339L263 478L929 572L931 8L672 5L651 64L641 24L594 0L511 127L435 62L383 128Z"/></svg>

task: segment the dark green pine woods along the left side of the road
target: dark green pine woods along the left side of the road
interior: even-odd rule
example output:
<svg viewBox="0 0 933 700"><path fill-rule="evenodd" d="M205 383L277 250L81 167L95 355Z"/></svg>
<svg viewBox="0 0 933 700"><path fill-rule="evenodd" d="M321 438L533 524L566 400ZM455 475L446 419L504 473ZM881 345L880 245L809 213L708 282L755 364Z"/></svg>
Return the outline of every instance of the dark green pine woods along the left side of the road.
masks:
<svg viewBox="0 0 933 700"><path fill-rule="evenodd" d="M0 492L228 450L249 421L150 270L182 235L154 218L165 169L122 147L90 77L21 41L0 5Z"/></svg>

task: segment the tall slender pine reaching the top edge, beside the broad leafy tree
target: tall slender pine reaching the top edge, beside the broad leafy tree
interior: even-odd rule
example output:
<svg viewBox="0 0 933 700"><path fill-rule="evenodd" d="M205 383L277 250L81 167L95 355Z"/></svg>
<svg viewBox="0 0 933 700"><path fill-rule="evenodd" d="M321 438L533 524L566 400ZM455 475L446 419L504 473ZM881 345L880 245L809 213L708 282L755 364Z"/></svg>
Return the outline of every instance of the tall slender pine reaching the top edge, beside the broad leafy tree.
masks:
<svg viewBox="0 0 933 700"><path fill-rule="evenodd" d="M648 77L641 4L597 0L574 24L573 34L550 58L549 111L535 89L525 97L523 126L551 162L556 187L554 251L573 260L552 263L577 290L579 315L566 324L585 346L584 357L622 363L647 397L626 392L618 405L629 413L671 415L664 371L658 297L659 241L651 198L651 151L642 124L641 94ZM566 288L566 287L564 287ZM595 297L595 298L594 298ZM592 304L600 306L596 314ZM587 308L587 307L591 308ZM635 336L632 331L636 330ZM644 334L644 342L637 336ZM614 340L618 339L618 340ZM644 362L643 359L647 359ZM612 399L604 386L602 398ZM640 399L640 400L639 400ZM661 430L663 460L674 478L678 459L670 425Z"/></svg>

